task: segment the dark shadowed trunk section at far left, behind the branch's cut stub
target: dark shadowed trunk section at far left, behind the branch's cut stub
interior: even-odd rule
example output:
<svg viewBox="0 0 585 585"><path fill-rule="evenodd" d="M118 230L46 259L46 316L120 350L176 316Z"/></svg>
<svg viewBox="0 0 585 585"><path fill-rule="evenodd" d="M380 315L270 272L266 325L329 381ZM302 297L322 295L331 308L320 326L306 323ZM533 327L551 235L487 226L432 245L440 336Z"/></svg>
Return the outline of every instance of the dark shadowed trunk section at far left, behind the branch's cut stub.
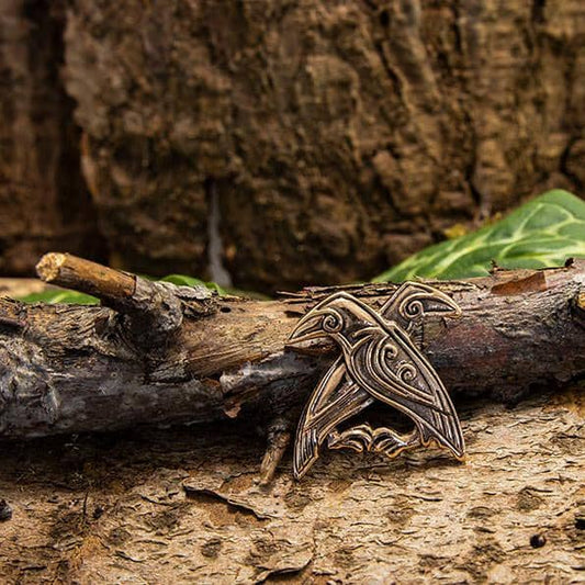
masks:
<svg viewBox="0 0 585 585"><path fill-rule="evenodd" d="M0 4L0 274L32 273L47 249L104 256L59 77L64 23L63 2Z"/></svg>

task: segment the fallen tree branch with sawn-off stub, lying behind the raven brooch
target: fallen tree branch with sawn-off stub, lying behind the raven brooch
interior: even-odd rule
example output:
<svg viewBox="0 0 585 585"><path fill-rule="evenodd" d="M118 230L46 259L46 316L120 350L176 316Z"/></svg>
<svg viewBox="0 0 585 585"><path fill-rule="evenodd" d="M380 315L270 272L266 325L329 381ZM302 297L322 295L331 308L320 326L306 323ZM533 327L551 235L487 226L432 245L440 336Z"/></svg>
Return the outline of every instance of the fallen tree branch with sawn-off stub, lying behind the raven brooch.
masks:
<svg viewBox="0 0 585 585"><path fill-rule="evenodd" d="M271 475L288 441L272 421L294 421L290 413L334 357L327 344L311 355L285 349L286 338L336 289L270 302L218 297L55 254L38 273L103 306L0 300L0 436L248 417L272 425ZM436 285L463 310L455 322L425 319L420 331L452 393L516 401L585 373L585 262ZM395 285L345 289L380 306Z"/></svg>

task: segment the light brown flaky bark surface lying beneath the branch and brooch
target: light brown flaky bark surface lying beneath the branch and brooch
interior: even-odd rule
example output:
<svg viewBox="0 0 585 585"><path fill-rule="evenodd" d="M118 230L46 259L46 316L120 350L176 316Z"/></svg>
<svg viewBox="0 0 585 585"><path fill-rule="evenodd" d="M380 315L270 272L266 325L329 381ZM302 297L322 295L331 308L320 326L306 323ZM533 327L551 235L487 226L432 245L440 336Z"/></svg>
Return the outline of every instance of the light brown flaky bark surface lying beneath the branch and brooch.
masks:
<svg viewBox="0 0 585 585"><path fill-rule="evenodd" d="M246 425L0 442L0 581L582 583L583 396L460 405L463 465L326 451L269 487Z"/></svg>

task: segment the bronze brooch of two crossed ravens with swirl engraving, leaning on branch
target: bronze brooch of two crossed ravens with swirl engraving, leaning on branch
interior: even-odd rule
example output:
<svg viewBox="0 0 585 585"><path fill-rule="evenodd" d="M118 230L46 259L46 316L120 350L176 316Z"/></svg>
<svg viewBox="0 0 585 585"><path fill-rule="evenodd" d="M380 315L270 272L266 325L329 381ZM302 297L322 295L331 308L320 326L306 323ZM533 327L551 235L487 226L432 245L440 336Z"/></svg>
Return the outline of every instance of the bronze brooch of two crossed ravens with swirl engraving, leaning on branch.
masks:
<svg viewBox="0 0 585 585"><path fill-rule="evenodd" d="M329 449L375 451L390 458L418 445L435 443L462 459L464 441L458 415L437 372L415 345L417 326L427 314L461 316L457 303L442 292L405 282L380 312L346 292L334 293L304 315L289 346L329 337L340 356L325 373L301 416L294 443L293 471L301 479ZM363 424L338 426L375 401L407 415L410 436Z"/></svg>

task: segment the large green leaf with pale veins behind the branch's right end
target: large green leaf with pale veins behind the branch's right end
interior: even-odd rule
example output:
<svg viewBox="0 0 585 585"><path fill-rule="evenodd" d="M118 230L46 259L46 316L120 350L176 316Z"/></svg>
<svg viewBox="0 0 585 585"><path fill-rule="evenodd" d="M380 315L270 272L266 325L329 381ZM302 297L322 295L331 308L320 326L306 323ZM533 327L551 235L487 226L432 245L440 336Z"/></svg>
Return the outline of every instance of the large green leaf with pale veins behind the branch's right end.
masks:
<svg viewBox="0 0 585 585"><path fill-rule="evenodd" d="M493 225L410 256L374 281L482 277L492 260L502 268L548 268L571 257L585 258L585 201L558 189Z"/></svg>

